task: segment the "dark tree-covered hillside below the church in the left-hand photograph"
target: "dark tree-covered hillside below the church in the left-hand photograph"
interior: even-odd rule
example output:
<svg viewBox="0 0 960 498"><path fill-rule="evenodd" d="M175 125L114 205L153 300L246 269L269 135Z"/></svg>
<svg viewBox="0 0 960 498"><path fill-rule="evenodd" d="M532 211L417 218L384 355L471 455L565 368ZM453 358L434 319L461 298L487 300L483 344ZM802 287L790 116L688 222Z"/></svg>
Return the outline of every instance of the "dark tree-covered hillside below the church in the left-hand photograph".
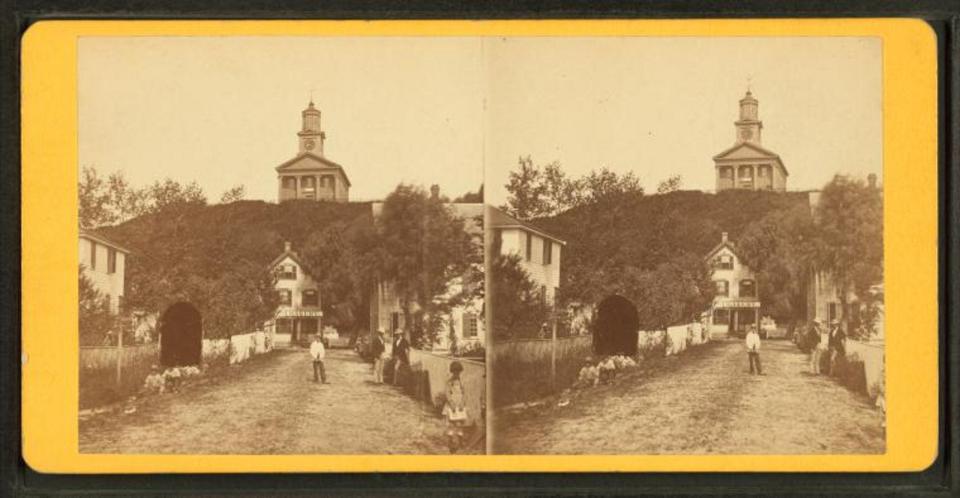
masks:
<svg viewBox="0 0 960 498"><path fill-rule="evenodd" d="M189 301L213 336L249 330L276 307L267 266L289 241L310 260L314 235L372 230L369 203L237 201L177 203L99 229L132 251L128 309L162 311ZM325 303L326 304L326 303Z"/></svg>

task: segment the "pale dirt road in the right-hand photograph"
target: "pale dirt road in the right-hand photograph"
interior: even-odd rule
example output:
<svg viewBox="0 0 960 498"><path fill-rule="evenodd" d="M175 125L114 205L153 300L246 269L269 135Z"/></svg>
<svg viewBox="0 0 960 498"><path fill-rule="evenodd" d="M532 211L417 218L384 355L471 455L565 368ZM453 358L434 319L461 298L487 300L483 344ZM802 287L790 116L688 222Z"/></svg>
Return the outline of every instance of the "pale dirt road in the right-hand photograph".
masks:
<svg viewBox="0 0 960 498"><path fill-rule="evenodd" d="M809 374L807 356L764 341L764 375L741 341L718 341L587 389L569 405L498 413L508 454L883 453L883 416L865 395Z"/></svg>

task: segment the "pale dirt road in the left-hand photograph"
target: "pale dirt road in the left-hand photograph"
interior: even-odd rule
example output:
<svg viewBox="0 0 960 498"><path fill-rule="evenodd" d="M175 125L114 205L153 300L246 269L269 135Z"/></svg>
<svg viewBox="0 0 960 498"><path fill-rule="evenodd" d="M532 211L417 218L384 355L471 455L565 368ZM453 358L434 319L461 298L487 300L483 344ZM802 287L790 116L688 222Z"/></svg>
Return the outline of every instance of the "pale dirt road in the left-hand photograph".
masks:
<svg viewBox="0 0 960 498"><path fill-rule="evenodd" d="M131 414L80 422L82 453L448 453L444 422L370 365L330 350L329 384L313 382L304 350L250 360L180 393L145 398Z"/></svg>

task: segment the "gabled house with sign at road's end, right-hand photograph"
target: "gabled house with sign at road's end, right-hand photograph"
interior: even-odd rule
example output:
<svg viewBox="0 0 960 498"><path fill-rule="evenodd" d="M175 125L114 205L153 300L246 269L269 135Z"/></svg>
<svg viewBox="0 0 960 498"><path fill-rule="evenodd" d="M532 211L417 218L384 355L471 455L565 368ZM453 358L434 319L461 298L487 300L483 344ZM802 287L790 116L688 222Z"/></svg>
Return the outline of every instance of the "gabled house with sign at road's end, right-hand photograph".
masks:
<svg viewBox="0 0 960 498"><path fill-rule="evenodd" d="M720 244L704 258L713 269L711 278L716 294L710 309L710 334L724 337L740 335L748 326L760 324L760 297L753 270L743 264L727 232Z"/></svg>

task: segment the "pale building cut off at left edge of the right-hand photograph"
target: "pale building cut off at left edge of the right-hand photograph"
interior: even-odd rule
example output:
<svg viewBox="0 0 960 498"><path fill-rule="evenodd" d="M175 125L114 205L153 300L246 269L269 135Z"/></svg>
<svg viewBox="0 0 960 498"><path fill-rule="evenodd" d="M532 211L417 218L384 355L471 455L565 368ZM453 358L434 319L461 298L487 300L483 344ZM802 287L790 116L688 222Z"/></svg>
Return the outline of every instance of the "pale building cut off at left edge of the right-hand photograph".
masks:
<svg viewBox="0 0 960 498"><path fill-rule="evenodd" d="M487 206L487 227L494 254L520 256L521 267L540 287L544 302L552 306L560 290L561 248L566 242L492 206Z"/></svg>

